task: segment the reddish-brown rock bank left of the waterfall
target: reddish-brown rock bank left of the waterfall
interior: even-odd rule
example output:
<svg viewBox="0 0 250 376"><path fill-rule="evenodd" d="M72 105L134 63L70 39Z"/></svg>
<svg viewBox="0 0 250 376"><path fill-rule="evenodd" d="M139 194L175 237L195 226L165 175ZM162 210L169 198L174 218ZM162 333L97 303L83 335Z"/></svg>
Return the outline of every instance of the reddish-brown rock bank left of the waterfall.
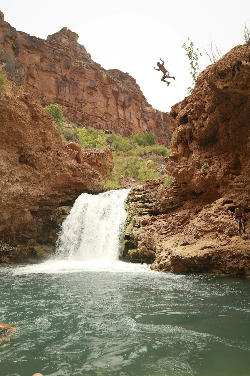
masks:
<svg viewBox="0 0 250 376"><path fill-rule="evenodd" d="M51 115L11 83L0 91L0 239L15 244L42 242L51 211L83 192L105 188L99 174L114 167L110 149L96 156L94 168L84 150L62 143Z"/></svg>

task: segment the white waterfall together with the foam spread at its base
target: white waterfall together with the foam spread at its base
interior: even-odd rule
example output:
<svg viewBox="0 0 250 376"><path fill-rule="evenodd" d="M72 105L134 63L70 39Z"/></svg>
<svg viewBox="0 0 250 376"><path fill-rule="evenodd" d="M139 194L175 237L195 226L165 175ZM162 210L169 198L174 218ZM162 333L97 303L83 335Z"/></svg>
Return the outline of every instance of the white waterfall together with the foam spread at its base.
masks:
<svg viewBox="0 0 250 376"><path fill-rule="evenodd" d="M55 257L41 264L13 267L12 273L148 273L147 264L118 259L128 193L129 189L81 194L61 226Z"/></svg>

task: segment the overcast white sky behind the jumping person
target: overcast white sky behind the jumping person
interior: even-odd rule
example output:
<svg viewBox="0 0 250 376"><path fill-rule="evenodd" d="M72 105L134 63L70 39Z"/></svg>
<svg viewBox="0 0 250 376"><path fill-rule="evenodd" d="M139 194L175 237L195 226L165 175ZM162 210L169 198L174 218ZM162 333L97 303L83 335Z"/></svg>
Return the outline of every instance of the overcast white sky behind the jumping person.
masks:
<svg viewBox="0 0 250 376"><path fill-rule="evenodd" d="M156 109L170 111L192 83L181 48L187 37L200 51L210 35L225 54L243 44L241 30L250 18L250 1L61 0L1 2L4 20L17 30L46 39L67 26L79 35L91 58L105 69L128 72ZM154 66L159 57L176 80L167 86ZM201 70L207 59L200 61Z"/></svg>

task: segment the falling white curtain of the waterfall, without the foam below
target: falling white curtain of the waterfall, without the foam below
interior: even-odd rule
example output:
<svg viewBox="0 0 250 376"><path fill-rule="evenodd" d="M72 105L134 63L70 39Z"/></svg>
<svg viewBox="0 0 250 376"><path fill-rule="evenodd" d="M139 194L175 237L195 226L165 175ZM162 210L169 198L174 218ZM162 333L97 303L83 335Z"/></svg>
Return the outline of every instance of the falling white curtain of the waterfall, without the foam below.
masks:
<svg viewBox="0 0 250 376"><path fill-rule="evenodd" d="M82 193L61 226L57 258L74 261L118 261L129 189L98 195Z"/></svg>

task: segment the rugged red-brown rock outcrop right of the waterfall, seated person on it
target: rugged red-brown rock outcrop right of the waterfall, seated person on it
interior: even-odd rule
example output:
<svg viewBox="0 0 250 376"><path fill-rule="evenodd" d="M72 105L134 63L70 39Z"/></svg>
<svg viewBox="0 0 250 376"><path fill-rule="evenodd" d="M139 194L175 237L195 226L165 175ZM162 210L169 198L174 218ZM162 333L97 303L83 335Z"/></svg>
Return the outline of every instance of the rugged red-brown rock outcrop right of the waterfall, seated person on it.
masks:
<svg viewBox="0 0 250 376"><path fill-rule="evenodd" d="M125 259L162 271L250 275L249 224L238 234L234 220L238 203L250 220L249 77L250 44L239 45L172 107L173 182L148 180L131 191Z"/></svg>

